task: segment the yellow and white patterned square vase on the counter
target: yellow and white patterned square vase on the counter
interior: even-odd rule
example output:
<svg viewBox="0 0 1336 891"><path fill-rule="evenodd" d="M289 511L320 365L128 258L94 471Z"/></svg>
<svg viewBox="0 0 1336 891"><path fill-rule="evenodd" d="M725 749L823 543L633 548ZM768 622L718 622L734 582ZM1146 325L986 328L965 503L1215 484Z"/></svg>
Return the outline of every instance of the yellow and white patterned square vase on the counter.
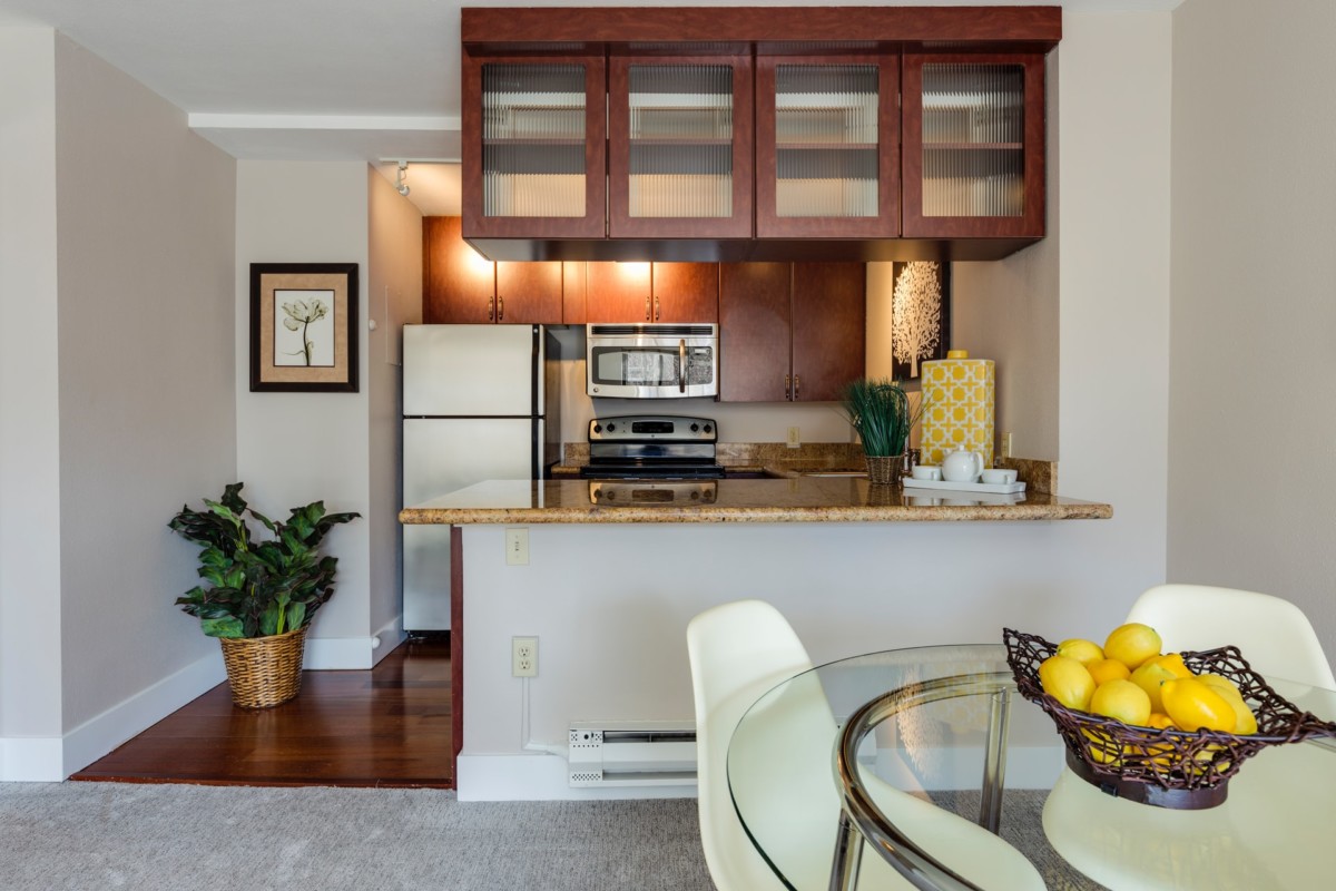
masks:
<svg viewBox="0 0 1336 891"><path fill-rule="evenodd" d="M978 452L993 466L993 359L971 359L951 350L945 359L925 362L923 419L919 430L922 464L942 464L957 449Z"/></svg>

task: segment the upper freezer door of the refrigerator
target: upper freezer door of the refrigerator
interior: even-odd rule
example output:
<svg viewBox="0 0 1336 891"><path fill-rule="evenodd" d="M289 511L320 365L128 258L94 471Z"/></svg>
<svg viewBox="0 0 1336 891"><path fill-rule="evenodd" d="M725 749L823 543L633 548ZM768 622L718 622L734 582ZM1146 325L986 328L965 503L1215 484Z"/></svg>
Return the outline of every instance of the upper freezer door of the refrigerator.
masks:
<svg viewBox="0 0 1336 891"><path fill-rule="evenodd" d="M405 325L403 414L542 414L542 350L532 325Z"/></svg>

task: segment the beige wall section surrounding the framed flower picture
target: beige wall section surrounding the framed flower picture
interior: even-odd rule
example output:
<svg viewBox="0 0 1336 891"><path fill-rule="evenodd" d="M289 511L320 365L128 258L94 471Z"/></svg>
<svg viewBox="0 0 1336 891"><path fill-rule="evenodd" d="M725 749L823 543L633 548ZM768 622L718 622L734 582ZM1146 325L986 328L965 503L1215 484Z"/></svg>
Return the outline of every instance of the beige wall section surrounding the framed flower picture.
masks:
<svg viewBox="0 0 1336 891"><path fill-rule="evenodd" d="M334 597L317 614L306 657L313 668L369 668L370 417L367 335L367 182L358 162L239 162L236 168L236 472L257 510L286 517L323 500L361 520L335 526ZM358 393L250 391L250 264L357 263Z"/></svg>

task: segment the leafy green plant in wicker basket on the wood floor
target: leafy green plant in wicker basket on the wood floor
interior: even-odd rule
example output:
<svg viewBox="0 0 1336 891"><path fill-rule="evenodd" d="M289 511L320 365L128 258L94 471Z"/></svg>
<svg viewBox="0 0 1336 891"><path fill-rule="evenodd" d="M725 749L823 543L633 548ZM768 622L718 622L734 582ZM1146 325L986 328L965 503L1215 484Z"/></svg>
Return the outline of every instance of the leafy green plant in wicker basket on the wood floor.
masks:
<svg viewBox="0 0 1336 891"><path fill-rule="evenodd" d="M196 585L176 604L218 637L232 701L267 708L297 696L302 685L306 628L334 593L335 557L321 557L325 534L355 513L325 513L323 501L293 508L287 522L275 522L247 508L240 482L219 501L204 498L204 510L183 505L167 528L200 545ZM270 537L257 540L246 514Z"/></svg>

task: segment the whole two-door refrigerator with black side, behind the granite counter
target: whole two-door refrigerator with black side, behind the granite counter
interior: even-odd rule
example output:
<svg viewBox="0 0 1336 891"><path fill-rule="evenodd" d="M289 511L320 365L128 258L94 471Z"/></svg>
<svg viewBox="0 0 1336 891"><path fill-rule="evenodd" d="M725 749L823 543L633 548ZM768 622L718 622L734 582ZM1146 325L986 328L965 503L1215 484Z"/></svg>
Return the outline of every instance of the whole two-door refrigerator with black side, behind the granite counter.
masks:
<svg viewBox="0 0 1336 891"><path fill-rule="evenodd" d="M403 506L561 460L560 349L538 325L403 326ZM403 628L450 628L450 528L403 526Z"/></svg>

